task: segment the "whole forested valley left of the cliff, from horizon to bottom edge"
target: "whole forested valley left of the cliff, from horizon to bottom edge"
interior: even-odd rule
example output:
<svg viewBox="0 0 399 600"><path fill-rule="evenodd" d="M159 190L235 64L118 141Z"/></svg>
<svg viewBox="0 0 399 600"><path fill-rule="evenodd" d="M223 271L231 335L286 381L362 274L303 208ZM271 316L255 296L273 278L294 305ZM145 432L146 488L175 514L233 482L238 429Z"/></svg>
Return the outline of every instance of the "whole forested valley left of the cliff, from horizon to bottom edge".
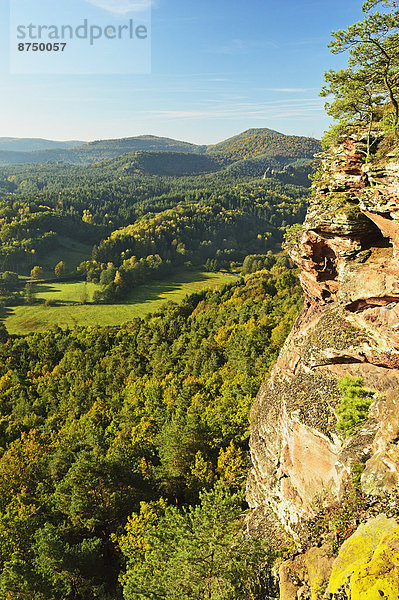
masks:
<svg viewBox="0 0 399 600"><path fill-rule="evenodd" d="M273 552L242 535L248 415L302 306L281 245L319 143L3 142L0 597L184 594L191 558L146 557L150 525L198 556L194 597L207 548L212 586L252 597Z"/></svg>

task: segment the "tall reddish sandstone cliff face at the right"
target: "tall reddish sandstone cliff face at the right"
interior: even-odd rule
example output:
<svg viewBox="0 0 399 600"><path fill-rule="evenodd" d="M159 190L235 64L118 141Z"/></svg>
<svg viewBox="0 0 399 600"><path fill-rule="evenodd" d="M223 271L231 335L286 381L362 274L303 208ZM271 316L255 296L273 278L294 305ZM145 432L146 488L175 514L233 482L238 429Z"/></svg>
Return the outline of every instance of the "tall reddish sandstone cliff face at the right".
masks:
<svg viewBox="0 0 399 600"><path fill-rule="evenodd" d="M376 146L381 140L376 140ZM304 309L252 409L249 529L303 540L321 509L399 483L399 145L364 163L365 140L321 156L301 231L286 249L302 270ZM340 378L375 392L356 435L337 433Z"/></svg>

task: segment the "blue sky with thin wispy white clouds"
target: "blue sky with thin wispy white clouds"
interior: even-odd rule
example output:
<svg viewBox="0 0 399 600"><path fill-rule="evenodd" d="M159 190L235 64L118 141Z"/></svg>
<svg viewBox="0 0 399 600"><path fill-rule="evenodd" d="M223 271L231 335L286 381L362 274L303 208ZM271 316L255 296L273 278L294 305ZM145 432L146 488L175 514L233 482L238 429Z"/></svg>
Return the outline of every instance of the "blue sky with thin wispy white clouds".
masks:
<svg viewBox="0 0 399 600"><path fill-rule="evenodd" d="M49 22L44 0L29 0L31 7L35 1L37 22ZM327 48L331 31L362 18L361 0L51 1L74 23L140 23L150 11L149 72L129 72L134 57L127 43L117 51L112 46L107 62L101 52L113 42L104 41L87 73L35 73L29 65L27 73L15 73L9 3L13 14L12 3L23 0L0 0L0 137L152 134L212 144L268 127L319 138L330 123L319 97L324 71L346 63ZM69 55L72 71L83 63L79 52L75 46Z"/></svg>

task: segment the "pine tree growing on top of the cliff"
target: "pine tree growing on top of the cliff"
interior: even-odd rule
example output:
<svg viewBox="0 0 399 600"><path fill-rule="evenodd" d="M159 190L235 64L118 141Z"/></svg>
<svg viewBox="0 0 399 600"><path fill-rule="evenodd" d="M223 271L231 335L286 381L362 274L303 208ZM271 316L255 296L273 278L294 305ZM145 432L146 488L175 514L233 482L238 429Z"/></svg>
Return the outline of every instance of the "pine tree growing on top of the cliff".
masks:
<svg viewBox="0 0 399 600"><path fill-rule="evenodd" d="M383 5L383 11L374 11ZM348 68L330 70L321 96L329 115L346 128L351 123L380 121L396 129L399 124L399 12L397 0L367 0L363 21L334 31L329 45L333 54L349 52Z"/></svg>

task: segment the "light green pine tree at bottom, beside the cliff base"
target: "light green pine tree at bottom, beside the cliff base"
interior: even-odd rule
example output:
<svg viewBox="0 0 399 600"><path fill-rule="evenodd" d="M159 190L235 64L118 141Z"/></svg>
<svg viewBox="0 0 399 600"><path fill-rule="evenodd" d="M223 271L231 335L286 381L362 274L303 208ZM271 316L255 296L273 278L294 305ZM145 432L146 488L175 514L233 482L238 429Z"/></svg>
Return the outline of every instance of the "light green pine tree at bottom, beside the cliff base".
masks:
<svg viewBox="0 0 399 600"><path fill-rule="evenodd" d="M135 522L120 545L127 560L125 600L250 600L263 598L260 572L270 561L266 544L245 539L241 502L222 484L200 494L186 511L166 507L147 520L137 545Z"/></svg>

